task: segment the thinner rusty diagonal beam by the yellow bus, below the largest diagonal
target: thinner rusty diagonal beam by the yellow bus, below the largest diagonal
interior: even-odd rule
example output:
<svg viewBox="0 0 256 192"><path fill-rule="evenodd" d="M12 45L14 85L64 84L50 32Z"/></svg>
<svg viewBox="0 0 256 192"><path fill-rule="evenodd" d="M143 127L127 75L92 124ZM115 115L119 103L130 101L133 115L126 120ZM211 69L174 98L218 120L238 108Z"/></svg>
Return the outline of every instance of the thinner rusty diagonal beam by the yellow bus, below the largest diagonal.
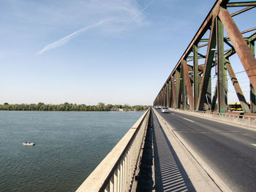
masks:
<svg viewBox="0 0 256 192"><path fill-rule="evenodd" d="M226 64L227 64L227 72L228 72L228 74L230 74L230 79L231 79L232 84L236 90L236 95L240 101L241 107L244 112L249 112L249 107L247 105L246 99L244 98L244 94L243 94L243 92L240 88L240 85L238 83L238 80L236 78L236 74L234 73L233 68L230 65L230 62L228 60L227 60Z"/></svg>

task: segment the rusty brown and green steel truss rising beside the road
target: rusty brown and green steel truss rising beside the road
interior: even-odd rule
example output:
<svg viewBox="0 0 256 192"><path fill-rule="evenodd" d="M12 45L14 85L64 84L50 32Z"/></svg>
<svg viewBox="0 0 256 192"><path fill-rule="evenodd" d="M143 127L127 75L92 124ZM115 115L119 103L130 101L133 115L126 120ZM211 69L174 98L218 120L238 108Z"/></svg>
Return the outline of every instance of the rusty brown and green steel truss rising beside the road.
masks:
<svg viewBox="0 0 256 192"><path fill-rule="evenodd" d="M243 7L243 9L230 14L227 7ZM244 95L241 92L238 81L235 80L236 75L234 76L232 66L229 62L229 58L237 53L250 81L250 112L256 112L256 33L252 34L251 37L242 36L242 34L246 34L249 31L255 31L256 28L254 27L240 32L232 18L255 7L256 1L216 1L214 7L212 7L203 24L195 34L195 37L187 47L187 50L185 50L161 91L159 91L157 98L154 100L154 105L160 104L184 110L187 107L189 107L189 110L214 110L217 107L219 112L226 112L228 71L230 79L233 80L238 99L243 103L244 112L249 112ZM224 29L228 37L224 37ZM202 37L208 30L210 32L209 38L203 39ZM206 42L206 44L198 46L199 42ZM224 45L230 48L224 50ZM201 54L199 51L200 48L206 46L206 55ZM216 61L214 61L214 58L217 58ZM205 63L198 65L199 59L204 59ZM189 61L193 61L193 64L188 65L187 62ZM213 98L211 99L211 69L215 65L217 65L217 85ZM189 105L187 105L187 100L189 101Z"/></svg>

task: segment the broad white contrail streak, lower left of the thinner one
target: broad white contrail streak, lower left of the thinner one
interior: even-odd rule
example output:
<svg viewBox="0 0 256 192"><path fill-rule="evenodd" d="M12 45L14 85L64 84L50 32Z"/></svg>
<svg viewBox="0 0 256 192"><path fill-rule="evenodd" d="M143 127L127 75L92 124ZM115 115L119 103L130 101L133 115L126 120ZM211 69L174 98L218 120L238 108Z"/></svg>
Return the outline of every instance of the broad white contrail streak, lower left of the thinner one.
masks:
<svg viewBox="0 0 256 192"><path fill-rule="evenodd" d="M109 20L109 19L108 19ZM53 50L56 47L60 47L61 45L64 45L65 43L69 42L71 39L73 39L74 37L78 36L79 34L83 33L84 31L89 30L90 28L94 28L97 27L99 25L101 25L102 23L107 22L108 20L101 20L98 23L94 23L91 26L86 26L84 28L79 29L78 31L73 32L72 34L67 35L66 37L63 37L61 39L59 39L56 42L50 43L49 45L46 45L45 47L42 48L42 50L39 50L36 55L40 55L42 53L45 53L45 51L48 50Z"/></svg>

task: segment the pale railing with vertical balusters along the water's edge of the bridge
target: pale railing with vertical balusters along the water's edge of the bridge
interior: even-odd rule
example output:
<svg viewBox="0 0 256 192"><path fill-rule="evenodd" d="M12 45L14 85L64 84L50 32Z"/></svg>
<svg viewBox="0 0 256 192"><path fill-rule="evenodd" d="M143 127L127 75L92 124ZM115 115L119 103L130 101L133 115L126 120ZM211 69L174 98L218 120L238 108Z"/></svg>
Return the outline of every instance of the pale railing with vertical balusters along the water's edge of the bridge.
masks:
<svg viewBox="0 0 256 192"><path fill-rule="evenodd" d="M80 185L81 191L129 191L138 164L150 109L127 131L102 162Z"/></svg>

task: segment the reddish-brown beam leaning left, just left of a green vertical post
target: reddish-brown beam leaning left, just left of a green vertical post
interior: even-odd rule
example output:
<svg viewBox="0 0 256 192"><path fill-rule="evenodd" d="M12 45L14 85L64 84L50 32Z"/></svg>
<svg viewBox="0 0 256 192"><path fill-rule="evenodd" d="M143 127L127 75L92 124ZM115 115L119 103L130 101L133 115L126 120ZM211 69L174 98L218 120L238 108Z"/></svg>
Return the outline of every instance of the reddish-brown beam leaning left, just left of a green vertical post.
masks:
<svg viewBox="0 0 256 192"><path fill-rule="evenodd" d="M182 66L183 66L183 72L184 72L183 76L184 76L186 87L187 87L187 94L189 96L189 106L190 106L189 108L190 110L194 110L194 98L193 98L193 92L192 92L192 85L189 77L189 69L187 67L187 61L183 60Z"/></svg>

